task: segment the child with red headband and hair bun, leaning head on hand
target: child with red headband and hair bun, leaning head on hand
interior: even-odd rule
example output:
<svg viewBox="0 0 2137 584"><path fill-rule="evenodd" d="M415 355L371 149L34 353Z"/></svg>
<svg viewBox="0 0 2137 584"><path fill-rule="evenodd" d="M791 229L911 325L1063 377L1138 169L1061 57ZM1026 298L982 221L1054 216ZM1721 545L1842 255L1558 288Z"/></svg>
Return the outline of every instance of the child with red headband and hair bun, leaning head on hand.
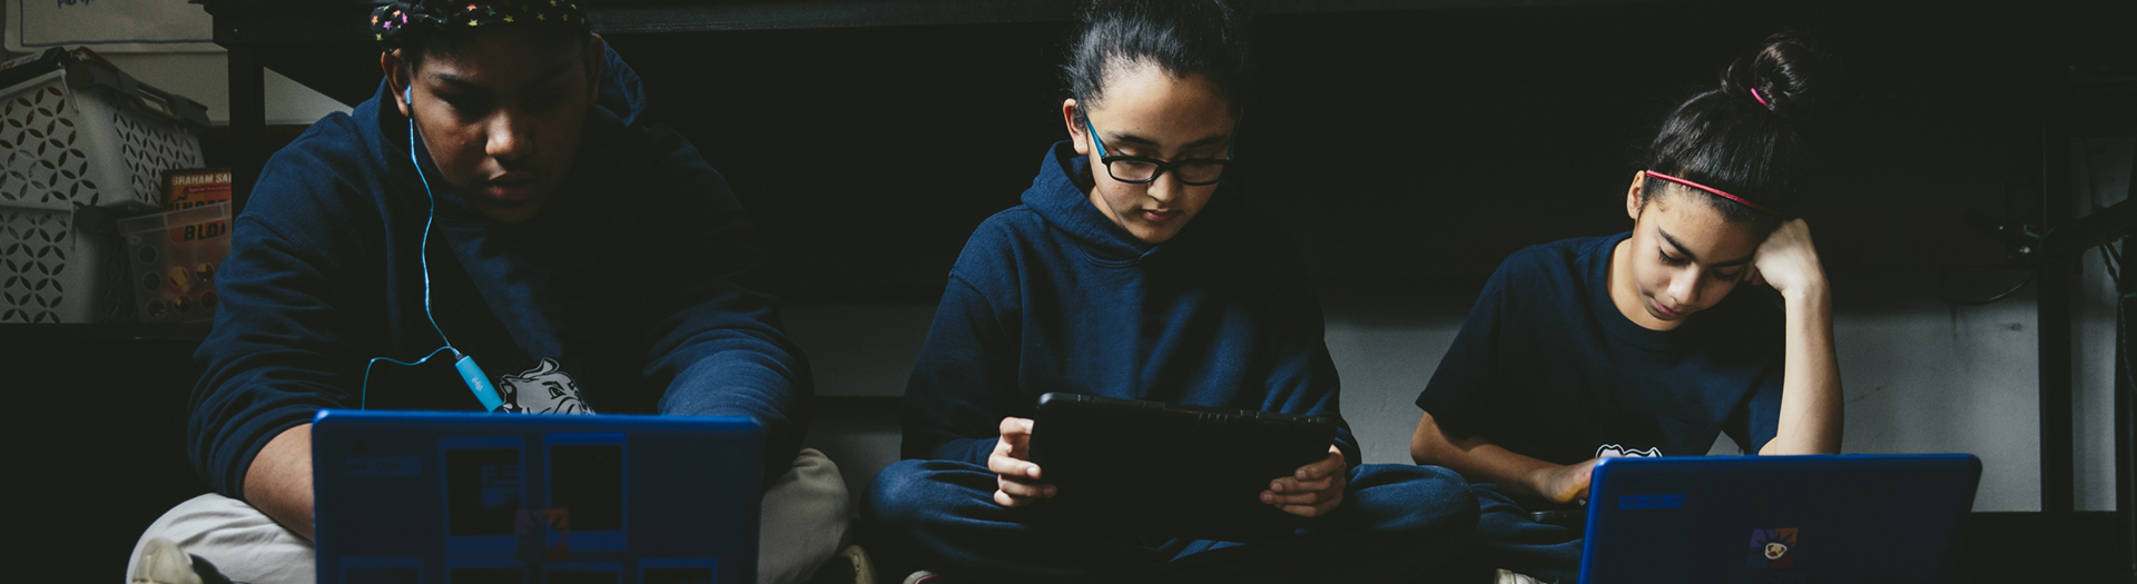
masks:
<svg viewBox="0 0 2137 584"><path fill-rule="evenodd" d="M1577 578L1581 531L1528 511L1579 509L1601 458L1703 456L1725 432L1840 451L1831 293L1789 214L1816 75L1808 39L1767 39L1663 122L1624 193L1633 231L1519 250L1485 282L1417 396L1410 458L1479 483L1502 578Z"/></svg>

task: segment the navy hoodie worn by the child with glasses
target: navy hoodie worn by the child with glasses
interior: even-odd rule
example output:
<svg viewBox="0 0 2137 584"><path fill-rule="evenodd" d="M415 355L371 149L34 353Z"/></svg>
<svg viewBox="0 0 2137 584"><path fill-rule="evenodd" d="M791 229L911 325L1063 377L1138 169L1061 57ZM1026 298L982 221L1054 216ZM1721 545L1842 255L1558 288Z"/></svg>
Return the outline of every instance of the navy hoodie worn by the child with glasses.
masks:
<svg viewBox="0 0 2137 584"><path fill-rule="evenodd" d="M1304 257L1235 182L1156 246L1090 188L1056 143L1024 205L966 242L906 385L904 458L985 466L1002 417L1047 391L1340 417ZM1357 466L1348 424L1336 443Z"/></svg>

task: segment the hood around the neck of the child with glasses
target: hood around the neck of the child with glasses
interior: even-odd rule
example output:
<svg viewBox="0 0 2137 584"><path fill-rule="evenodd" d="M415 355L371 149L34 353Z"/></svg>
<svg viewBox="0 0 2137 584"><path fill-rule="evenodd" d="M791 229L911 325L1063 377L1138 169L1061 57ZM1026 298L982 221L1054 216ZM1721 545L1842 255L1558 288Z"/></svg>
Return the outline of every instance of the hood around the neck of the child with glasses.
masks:
<svg viewBox="0 0 2137 584"><path fill-rule="evenodd" d="M1024 190L1024 205L1047 225L1068 233L1092 259L1101 263L1143 263L1158 257L1192 257L1210 248L1210 242L1233 231L1244 210L1244 193L1231 180L1218 184L1218 193L1197 212L1186 227L1180 227L1165 244L1145 244L1135 233L1113 225L1096 205L1090 190L1096 188L1090 158L1075 152L1073 141L1056 141L1047 156L1039 160L1039 175L1032 188Z"/></svg>

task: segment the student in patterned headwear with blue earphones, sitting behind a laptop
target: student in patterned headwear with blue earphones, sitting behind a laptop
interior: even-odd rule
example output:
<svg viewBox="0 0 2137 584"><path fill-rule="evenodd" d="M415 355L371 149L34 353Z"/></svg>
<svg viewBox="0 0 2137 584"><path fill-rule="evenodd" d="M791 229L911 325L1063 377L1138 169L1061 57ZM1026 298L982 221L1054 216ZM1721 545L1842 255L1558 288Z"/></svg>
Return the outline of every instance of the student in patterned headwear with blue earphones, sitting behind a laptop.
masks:
<svg viewBox="0 0 2137 584"><path fill-rule="evenodd" d="M378 92L280 150L235 220L188 426L216 492L139 550L310 582L312 415L485 409L451 368L468 355L513 411L756 419L761 580L808 580L840 552L846 490L799 447L808 364L735 282L761 255L720 173L639 120L635 73L571 2L395 2L370 24ZM147 567L173 560L154 548Z"/></svg>

